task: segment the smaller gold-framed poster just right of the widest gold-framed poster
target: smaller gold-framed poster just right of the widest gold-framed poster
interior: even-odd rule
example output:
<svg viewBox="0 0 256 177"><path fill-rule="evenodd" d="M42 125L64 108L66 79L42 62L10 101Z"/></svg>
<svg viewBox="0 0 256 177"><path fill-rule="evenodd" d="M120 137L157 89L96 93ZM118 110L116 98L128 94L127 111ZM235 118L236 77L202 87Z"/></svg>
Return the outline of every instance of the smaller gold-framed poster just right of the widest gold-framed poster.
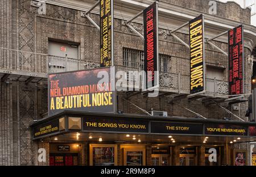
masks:
<svg viewBox="0 0 256 177"><path fill-rule="evenodd" d="M145 149L124 149L123 165L125 166L144 166L146 165Z"/></svg>

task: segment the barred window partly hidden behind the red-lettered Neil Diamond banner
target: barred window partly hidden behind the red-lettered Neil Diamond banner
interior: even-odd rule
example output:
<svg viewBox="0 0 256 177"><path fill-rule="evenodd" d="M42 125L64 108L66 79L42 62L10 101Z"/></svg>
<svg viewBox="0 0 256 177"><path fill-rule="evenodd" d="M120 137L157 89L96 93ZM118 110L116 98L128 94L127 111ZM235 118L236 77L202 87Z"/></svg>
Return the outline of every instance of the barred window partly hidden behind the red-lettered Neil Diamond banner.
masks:
<svg viewBox="0 0 256 177"><path fill-rule="evenodd" d="M144 51L123 48L123 66L144 69ZM171 56L159 54L160 71L169 72L171 68Z"/></svg>

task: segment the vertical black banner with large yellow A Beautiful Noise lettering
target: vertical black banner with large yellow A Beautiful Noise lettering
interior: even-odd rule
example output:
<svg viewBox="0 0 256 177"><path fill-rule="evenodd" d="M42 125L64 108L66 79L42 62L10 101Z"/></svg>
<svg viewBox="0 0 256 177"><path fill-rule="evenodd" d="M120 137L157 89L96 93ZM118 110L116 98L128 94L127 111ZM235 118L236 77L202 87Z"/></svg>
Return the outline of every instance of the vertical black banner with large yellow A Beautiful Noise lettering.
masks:
<svg viewBox="0 0 256 177"><path fill-rule="evenodd" d="M204 16L189 21L190 94L205 91Z"/></svg>

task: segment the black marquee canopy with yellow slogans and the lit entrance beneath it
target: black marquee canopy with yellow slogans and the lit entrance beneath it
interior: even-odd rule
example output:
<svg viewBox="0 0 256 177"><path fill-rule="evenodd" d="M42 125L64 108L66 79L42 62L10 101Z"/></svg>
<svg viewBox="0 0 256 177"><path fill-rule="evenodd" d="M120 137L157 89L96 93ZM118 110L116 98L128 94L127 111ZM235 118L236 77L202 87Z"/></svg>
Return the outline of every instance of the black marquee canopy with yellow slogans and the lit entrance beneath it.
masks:
<svg viewBox="0 0 256 177"><path fill-rule="evenodd" d="M230 142L255 141L255 130L255 123L241 121L82 111L32 125L49 165L247 165L247 149ZM212 148L216 162L209 161Z"/></svg>

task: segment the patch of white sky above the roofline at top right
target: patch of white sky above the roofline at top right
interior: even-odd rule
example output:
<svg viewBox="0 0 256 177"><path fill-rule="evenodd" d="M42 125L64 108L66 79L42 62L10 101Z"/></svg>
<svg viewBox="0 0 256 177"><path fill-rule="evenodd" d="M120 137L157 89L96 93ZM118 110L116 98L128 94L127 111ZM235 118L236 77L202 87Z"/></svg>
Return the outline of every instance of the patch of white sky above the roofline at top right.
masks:
<svg viewBox="0 0 256 177"><path fill-rule="evenodd" d="M218 0L221 2L227 2L225 0ZM251 8L251 24L256 26L256 0L233 0L238 3L241 7L249 7Z"/></svg>

